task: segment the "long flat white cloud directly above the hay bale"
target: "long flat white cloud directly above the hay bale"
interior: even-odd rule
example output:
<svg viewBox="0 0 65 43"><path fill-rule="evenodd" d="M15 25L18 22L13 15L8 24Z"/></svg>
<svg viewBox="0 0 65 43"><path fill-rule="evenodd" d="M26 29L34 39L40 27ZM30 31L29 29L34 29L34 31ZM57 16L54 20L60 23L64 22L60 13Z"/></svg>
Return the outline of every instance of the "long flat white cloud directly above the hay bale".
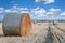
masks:
<svg viewBox="0 0 65 43"><path fill-rule="evenodd" d="M4 10L5 13L8 12L16 12L16 13L29 13L27 8L17 8L17 6L13 6L11 9L6 9Z"/></svg>

